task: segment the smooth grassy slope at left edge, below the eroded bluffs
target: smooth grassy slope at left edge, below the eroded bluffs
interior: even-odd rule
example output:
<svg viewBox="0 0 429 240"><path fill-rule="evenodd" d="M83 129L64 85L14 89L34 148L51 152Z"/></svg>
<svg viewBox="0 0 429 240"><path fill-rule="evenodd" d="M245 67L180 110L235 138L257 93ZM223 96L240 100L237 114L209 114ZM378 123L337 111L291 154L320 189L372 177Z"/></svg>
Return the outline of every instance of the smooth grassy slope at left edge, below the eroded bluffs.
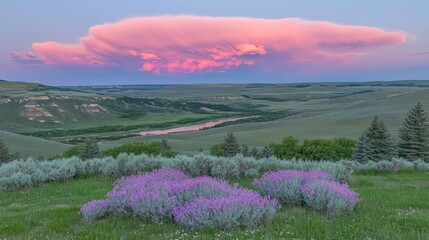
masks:
<svg viewBox="0 0 429 240"><path fill-rule="evenodd" d="M8 146L12 153L18 152L21 157L38 157L59 154L69 145L48 141L40 138L22 136L0 130L0 139Z"/></svg>

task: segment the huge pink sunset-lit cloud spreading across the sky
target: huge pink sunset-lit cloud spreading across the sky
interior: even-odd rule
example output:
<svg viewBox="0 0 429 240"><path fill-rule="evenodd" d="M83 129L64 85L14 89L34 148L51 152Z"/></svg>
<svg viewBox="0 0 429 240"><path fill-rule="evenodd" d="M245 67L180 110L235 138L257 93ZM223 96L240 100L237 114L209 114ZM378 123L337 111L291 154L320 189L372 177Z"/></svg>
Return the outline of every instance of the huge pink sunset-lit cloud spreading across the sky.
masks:
<svg viewBox="0 0 429 240"><path fill-rule="evenodd" d="M34 52L11 57L52 66L191 73L346 61L405 40L401 32L297 18L160 16L96 25L76 44L33 43Z"/></svg>

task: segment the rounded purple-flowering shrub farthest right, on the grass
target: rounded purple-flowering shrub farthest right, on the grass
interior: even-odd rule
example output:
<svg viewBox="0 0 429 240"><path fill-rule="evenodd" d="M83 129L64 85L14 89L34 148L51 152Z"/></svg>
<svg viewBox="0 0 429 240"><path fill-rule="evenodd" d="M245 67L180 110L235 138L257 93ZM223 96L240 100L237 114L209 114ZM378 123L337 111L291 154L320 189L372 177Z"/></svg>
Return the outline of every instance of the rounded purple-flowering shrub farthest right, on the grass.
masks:
<svg viewBox="0 0 429 240"><path fill-rule="evenodd" d="M316 180L305 183L302 188L305 203L329 216L350 212L359 202L358 193L347 183Z"/></svg>

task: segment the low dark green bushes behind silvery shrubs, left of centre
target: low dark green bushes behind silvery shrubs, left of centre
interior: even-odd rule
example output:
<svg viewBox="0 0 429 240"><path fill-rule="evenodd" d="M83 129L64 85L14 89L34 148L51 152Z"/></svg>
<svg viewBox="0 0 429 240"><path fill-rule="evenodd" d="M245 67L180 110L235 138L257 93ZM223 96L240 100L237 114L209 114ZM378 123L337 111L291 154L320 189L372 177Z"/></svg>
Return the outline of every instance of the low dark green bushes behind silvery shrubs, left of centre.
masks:
<svg viewBox="0 0 429 240"><path fill-rule="evenodd" d="M170 145L166 140L165 142L132 142L122 146L109 148L103 151L104 156L118 157L120 153L127 154L147 154L151 156L164 156L164 157L175 157L176 152L171 150Z"/></svg>

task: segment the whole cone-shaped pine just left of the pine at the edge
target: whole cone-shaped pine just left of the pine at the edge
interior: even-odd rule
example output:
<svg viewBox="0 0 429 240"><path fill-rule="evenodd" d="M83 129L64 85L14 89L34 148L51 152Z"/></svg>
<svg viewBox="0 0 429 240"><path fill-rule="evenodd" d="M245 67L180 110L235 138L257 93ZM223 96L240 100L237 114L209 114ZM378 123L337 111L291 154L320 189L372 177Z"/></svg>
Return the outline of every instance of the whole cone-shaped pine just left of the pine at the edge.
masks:
<svg viewBox="0 0 429 240"><path fill-rule="evenodd" d="M358 162L378 162L394 155L393 139L384 122L375 116L359 138L353 158Z"/></svg>

